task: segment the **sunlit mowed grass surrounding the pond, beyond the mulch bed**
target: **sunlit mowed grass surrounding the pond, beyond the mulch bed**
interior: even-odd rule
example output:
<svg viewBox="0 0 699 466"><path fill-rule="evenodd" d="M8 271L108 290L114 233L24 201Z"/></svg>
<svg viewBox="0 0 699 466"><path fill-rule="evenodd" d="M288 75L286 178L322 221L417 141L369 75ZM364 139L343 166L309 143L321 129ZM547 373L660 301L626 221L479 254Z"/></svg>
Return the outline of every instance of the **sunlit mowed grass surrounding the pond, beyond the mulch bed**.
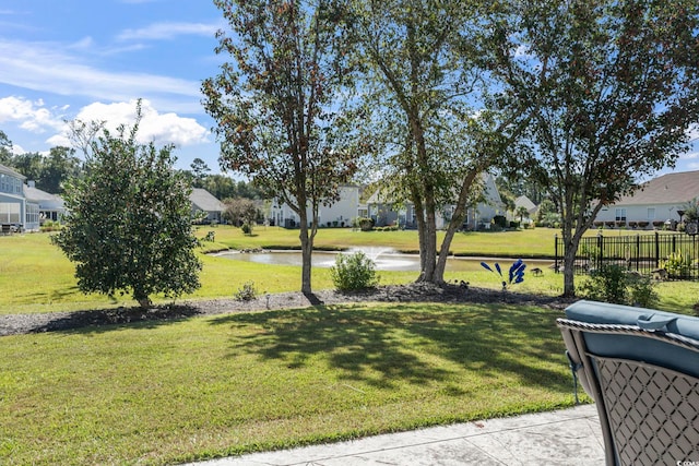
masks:
<svg viewBox="0 0 699 466"><path fill-rule="evenodd" d="M200 227L197 235L203 237L209 230L215 231L216 241L205 241L199 250L203 262L200 276L202 287L191 295L181 297L179 302L230 298L249 282L253 283L260 294L300 289L300 267L298 266L256 264L206 253L224 249L296 248L299 243L298 230L259 227L254 230L254 235L246 236L239 228L218 226ZM540 258L540 253L535 252L532 244L553 254L556 234L556 230L546 228L458 234L452 252L458 255L507 255L524 258L526 261L528 258ZM591 234L596 235L596 231ZM630 232L605 230L604 234L608 236ZM348 228L330 228L319 230L316 242L319 248L330 250L360 247L410 251L417 248L417 232L365 232ZM98 294L81 292L76 286L73 264L50 243L49 234L0 237L0 315L135 306L128 295L109 298ZM511 261L511 259L498 260L506 268ZM478 262L474 261L470 268L462 272L447 271L445 279L452 283L469 282L474 287L499 288L499 277L482 268ZM493 265L495 260L488 262ZM417 272L380 272L379 275L382 285L407 284L417 278ZM580 284L582 279L582 276L576 277L576 283ZM312 288L316 290L333 288L328 268L313 268ZM562 274L556 274L549 270L544 270L544 275L540 277L530 274L525 276L524 283L510 287L510 290L557 296L562 292ZM661 295L660 309L688 312L697 302L699 284L666 282L659 284L657 290ZM171 300L156 296L154 301L163 303Z"/></svg>

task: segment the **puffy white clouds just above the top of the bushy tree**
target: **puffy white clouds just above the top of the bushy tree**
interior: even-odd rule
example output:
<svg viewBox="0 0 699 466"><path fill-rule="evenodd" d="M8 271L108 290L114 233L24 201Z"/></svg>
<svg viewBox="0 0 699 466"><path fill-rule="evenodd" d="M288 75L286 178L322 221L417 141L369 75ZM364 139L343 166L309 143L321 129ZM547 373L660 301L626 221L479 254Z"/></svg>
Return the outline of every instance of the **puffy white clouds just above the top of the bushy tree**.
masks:
<svg viewBox="0 0 699 466"><path fill-rule="evenodd" d="M133 126L135 122L135 100L114 104L94 103L83 107L75 116L81 121L104 121L105 127L116 132L117 127ZM69 145L68 128L48 140L52 145ZM178 146L208 143L209 131L193 118L179 117L176 113L159 113L149 100L141 101L141 123L137 138L141 143L153 141L156 145L175 144Z"/></svg>

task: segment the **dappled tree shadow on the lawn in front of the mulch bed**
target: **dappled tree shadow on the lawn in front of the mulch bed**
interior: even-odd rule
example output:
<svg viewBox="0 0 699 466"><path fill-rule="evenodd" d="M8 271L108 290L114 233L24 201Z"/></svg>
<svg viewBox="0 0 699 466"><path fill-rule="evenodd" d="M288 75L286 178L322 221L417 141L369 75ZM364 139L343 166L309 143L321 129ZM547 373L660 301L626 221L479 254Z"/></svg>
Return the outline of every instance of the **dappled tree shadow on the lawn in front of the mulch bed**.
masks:
<svg viewBox="0 0 699 466"><path fill-rule="evenodd" d="M564 362L564 346L553 311L522 306L420 303L390 308L319 306L312 309L233 314L212 320L230 325L230 357L259 355L289 369L324 357L347 380L390 389L394 382L448 382L448 359L478 377L516 374L520 383L568 391L562 371L546 362ZM541 362L544 362L542 365ZM562 374L562 375L561 375ZM453 380L453 379L451 379ZM454 395L463 395L459 392Z"/></svg>

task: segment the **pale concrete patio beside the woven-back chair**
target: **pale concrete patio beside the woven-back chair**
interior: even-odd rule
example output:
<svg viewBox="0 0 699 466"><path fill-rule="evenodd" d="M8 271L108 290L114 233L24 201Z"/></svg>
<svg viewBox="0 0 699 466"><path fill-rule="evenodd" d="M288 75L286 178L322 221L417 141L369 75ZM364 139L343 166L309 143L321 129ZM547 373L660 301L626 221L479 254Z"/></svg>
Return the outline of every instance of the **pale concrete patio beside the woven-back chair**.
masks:
<svg viewBox="0 0 699 466"><path fill-rule="evenodd" d="M262 465L603 465L594 405L192 463Z"/></svg>

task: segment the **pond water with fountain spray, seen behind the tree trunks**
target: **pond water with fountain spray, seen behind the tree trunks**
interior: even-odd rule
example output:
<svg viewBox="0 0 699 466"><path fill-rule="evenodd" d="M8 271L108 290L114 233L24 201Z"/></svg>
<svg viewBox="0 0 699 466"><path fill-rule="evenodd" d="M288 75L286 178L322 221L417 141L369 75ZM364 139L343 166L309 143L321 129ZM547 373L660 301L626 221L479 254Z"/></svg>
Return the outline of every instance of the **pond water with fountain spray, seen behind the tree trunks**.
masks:
<svg viewBox="0 0 699 466"><path fill-rule="evenodd" d="M352 254L357 250L346 252L324 252L313 251L313 267L331 267L335 265L336 254ZM419 255L401 254L389 248L367 248L362 250L376 264L377 271L419 271ZM226 251L216 255L236 261L256 262L269 265L301 265L301 253L299 251L266 251L266 252L237 252ZM447 271L449 272L471 272L483 271L481 262L485 261L490 266L498 262L502 271L509 270L514 259L493 259L493 258L449 258L447 260ZM526 267L548 267L550 260L525 260Z"/></svg>

